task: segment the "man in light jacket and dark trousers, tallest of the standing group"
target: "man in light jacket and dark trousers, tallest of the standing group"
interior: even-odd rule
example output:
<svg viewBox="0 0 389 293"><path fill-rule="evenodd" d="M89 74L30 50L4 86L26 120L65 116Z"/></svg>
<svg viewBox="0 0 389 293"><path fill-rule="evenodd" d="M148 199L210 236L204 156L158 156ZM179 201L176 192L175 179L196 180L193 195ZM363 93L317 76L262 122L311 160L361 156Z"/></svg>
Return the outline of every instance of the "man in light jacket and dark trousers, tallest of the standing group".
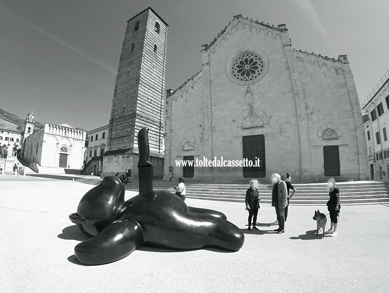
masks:
<svg viewBox="0 0 389 293"><path fill-rule="evenodd" d="M277 214L278 229L274 231L277 234L285 232L285 208L287 205L287 188L286 183L281 180L281 176L277 173L271 175L273 183L272 201L271 206L275 207L275 213Z"/></svg>

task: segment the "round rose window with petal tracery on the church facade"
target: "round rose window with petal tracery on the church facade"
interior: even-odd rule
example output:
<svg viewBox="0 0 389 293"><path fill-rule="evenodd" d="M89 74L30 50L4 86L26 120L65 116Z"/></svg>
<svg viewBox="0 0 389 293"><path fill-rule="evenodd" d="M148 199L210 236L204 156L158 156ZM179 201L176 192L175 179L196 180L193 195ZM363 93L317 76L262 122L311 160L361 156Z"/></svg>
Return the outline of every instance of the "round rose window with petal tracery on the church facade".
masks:
<svg viewBox="0 0 389 293"><path fill-rule="evenodd" d="M257 78L263 70L263 62L255 54L245 54L235 59L232 64L232 74L242 81Z"/></svg>

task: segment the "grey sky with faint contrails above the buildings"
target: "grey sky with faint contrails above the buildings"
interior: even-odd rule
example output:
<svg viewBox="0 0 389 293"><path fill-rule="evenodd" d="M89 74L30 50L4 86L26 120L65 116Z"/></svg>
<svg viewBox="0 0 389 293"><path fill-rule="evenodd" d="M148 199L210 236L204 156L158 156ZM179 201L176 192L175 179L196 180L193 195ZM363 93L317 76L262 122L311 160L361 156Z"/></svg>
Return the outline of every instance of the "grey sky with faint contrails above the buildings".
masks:
<svg viewBox="0 0 389 293"><path fill-rule="evenodd" d="M169 24L166 89L201 70L201 45L237 14L286 23L296 49L347 54L361 101L389 69L387 0L0 0L0 108L108 124L126 21L149 6Z"/></svg>

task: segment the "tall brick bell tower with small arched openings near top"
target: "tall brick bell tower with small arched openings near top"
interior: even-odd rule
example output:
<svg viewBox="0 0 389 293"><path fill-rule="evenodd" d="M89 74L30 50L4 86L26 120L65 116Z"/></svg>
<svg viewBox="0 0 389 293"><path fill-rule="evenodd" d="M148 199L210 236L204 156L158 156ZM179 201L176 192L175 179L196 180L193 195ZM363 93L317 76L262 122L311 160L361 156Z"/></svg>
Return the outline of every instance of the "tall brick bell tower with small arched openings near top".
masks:
<svg viewBox="0 0 389 293"><path fill-rule="evenodd" d="M154 176L163 178L167 28L151 7L127 21L102 177L116 173L138 176L137 134L147 126Z"/></svg>

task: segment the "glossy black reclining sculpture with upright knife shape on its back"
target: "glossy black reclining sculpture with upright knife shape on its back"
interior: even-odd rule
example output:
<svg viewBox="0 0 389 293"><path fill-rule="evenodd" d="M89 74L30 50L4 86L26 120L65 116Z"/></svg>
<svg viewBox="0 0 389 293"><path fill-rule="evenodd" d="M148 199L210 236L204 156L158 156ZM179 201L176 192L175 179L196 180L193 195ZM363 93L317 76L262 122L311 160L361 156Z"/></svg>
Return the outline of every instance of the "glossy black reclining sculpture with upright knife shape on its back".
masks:
<svg viewBox="0 0 389 293"><path fill-rule="evenodd" d="M124 185L105 177L81 199L77 213L69 216L86 235L74 248L77 259L99 265L128 256L141 245L189 250L216 247L238 251L244 234L224 214L192 208L175 194L153 190L149 160L149 128L138 133L139 194L124 201Z"/></svg>

